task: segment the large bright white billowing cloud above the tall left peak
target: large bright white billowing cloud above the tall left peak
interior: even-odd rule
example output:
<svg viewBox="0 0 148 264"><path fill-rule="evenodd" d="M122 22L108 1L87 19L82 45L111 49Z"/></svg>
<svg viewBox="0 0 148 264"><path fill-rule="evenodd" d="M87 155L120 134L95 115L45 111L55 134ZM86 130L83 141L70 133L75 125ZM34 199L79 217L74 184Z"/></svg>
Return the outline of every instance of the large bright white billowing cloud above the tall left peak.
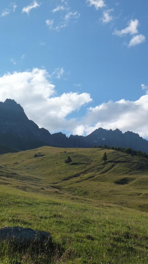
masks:
<svg viewBox="0 0 148 264"><path fill-rule="evenodd" d="M7 73L0 77L0 101L20 103L29 119L50 132L72 130L75 119L66 117L92 101L88 93L63 93L55 96L55 85L45 69Z"/></svg>

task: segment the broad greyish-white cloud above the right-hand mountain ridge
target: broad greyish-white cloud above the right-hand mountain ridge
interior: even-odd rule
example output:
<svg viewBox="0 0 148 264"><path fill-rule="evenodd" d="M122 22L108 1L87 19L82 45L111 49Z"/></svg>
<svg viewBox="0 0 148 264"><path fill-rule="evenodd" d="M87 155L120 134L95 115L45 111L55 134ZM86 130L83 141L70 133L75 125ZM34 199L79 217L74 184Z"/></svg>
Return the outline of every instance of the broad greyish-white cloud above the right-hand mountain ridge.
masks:
<svg viewBox="0 0 148 264"><path fill-rule="evenodd" d="M77 123L74 132L79 128L82 134L90 134L96 128L119 128L122 132L133 131L140 136L148 137L148 95L140 97L136 101L124 99L102 103L96 107L90 107L87 114ZM83 125L83 131L82 131Z"/></svg>

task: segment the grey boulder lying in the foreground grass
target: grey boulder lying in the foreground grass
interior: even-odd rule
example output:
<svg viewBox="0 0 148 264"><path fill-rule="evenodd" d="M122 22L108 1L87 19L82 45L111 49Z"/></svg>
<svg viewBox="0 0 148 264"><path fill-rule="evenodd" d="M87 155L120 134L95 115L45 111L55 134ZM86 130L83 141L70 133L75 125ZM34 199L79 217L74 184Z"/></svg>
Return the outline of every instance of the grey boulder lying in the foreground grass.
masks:
<svg viewBox="0 0 148 264"><path fill-rule="evenodd" d="M31 242L44 243L48 240L52 245L51 235L44 231L35 231L31 228L4 227L0 229L0 239L13 239L19 245L27 245Z"/></svg>

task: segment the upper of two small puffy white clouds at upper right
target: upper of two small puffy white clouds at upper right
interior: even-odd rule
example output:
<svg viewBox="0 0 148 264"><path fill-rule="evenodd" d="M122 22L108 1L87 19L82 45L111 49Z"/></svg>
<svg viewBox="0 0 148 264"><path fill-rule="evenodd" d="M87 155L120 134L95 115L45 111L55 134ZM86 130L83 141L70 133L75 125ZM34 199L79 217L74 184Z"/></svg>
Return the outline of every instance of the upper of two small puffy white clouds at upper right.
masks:
<svg viewBox="0 0 148 264"><path fill-rule="evenodd" d="M115 29L113 34L118 35L120 37L122 37L126 34L130 34L130 35L137 34L138 33L138 29L137 29L138 25L139 25L138 19L130 20L130 22L128 23L128 27L126 27L122 30Z"/></svg>

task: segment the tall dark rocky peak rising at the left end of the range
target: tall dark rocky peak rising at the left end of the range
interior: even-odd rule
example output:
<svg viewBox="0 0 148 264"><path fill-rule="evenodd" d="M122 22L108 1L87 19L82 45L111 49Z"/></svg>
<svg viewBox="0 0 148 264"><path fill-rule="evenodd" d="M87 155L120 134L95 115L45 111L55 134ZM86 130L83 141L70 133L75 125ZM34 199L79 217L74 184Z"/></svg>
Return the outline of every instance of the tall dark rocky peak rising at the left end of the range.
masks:
<svg viewBox="0 0 148 264"><path fill-rule="evenodd" d="M23 108L11 99L0 102L0 143L20 150L54 145L49 131L29 120Z"/></svg>

